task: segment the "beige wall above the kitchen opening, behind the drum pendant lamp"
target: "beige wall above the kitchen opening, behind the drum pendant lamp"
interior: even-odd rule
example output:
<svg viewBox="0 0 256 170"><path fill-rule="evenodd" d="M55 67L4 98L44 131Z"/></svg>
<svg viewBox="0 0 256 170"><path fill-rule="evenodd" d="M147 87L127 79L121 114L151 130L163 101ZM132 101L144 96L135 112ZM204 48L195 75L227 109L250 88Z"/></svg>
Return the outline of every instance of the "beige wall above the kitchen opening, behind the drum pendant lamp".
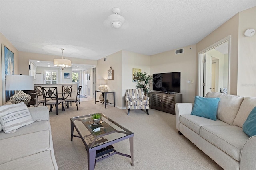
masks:
<svg viewBox="0 0 256 170"><path fill-rule="evenodd" d="M28 53L19 51L19 72L20 74L29 75L29 60L42 60L42 61L53 61L53 59L61 58L60 56L56 55L46 55L46 54L37 54L37 53ZM96 65L96 60L86 60L86 59L78 59L78 58L70 58L65 57L65 59L69 59L72 63L76 64L89 64L89 65Z"/></svg>

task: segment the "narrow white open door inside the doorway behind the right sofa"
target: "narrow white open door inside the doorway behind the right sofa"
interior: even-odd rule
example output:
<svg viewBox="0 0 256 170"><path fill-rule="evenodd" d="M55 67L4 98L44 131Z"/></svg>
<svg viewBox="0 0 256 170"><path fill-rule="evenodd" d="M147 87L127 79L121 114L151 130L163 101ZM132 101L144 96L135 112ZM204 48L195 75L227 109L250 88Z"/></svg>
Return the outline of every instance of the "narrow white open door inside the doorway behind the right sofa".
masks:
<svg viewBox="0 0 256 170"><path fill-rule="evenodd" d="M212 56L204 54L204 96L212 90Z"/></svg>

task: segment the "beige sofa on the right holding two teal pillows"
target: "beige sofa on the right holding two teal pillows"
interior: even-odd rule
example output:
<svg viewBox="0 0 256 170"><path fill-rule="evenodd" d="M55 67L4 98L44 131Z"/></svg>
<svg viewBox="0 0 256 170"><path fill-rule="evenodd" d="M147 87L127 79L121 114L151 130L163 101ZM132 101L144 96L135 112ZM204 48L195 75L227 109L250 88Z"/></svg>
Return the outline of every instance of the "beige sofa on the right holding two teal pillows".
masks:
<svg viewBox="0 0 256 170"><path fill-rule="evenodd" d="M220 98L217 120L190 115L193 103L175 105L176 128L225 170L256 170L256 136L249 137L242 127L256 98L208 92Z"/></svg>

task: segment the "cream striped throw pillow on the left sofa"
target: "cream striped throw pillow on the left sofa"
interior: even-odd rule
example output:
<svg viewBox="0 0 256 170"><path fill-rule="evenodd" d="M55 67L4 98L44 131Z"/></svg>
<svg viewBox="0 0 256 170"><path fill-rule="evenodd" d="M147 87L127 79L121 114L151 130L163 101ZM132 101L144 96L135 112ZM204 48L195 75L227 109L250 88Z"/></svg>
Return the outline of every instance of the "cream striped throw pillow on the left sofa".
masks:
<svg viewBox="0 0 256 170"><path fill-rule="evenodd" d="M16 129L33 122L24 102L0 106L0 123L4 133L14 133Z"/></svg>

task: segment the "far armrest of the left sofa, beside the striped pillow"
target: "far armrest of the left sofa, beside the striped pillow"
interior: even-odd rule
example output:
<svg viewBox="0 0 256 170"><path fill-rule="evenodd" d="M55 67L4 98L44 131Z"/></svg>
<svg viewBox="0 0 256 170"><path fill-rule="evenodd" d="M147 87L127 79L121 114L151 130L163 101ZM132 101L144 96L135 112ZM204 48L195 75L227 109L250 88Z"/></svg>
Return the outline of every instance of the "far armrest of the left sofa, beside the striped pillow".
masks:
<svg viewBox="0 0 256 170"><path fill-rule="evenodd" d="M49 109L47 106L29 107L28 108L33 121L48 120L49 121Z"/></svg>

